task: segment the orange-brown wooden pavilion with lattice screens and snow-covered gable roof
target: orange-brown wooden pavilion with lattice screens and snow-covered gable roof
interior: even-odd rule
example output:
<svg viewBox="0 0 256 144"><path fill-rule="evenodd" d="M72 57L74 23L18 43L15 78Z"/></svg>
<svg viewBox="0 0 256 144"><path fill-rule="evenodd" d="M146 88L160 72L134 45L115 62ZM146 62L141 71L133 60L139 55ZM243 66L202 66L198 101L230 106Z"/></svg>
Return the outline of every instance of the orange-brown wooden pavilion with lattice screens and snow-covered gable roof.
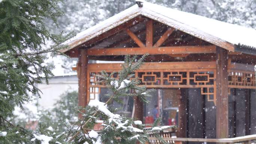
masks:
<svg viewBox="0 0 256 144"><path fill-rule="evenodd" d="M122 61L124 55L149 53L136 76L141 85L157 89L152 105L159 105L162 116L176 114L177 137L256 134L256 30L142 4L82 31L67 43L70 49L62 50L79 58L79 105L106 93L95 74L121 68L89 59ZM147 107L137 98L134 105L134 117L146 120Z"/></svg>

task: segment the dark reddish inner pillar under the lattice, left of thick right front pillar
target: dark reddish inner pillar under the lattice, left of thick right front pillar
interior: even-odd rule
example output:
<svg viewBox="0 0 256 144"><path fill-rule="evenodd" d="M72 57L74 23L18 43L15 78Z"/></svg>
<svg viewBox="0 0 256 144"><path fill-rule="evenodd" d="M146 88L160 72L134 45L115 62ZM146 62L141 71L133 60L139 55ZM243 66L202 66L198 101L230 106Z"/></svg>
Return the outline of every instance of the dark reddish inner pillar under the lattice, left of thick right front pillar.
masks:
<svg viewBox="0 0 256 144"><path fill-rule="evenodd" d="M178 122L178 138L186 138L187 129L187 96L186 89L180 89L179 98L179 122Z"/></svg>

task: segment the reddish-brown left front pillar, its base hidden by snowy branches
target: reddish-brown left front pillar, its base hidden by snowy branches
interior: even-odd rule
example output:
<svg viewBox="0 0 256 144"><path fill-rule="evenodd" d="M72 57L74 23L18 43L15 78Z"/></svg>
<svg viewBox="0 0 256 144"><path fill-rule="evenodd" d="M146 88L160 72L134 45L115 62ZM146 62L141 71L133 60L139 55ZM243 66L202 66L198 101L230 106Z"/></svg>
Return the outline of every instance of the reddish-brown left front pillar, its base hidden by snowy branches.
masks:
<svg viewBox="0 0 256 144"><path fill-rule="evenodd" d="M78 76L78 105L86 106L87 104L87 50L80 49L78 55L78 63L77 63L77 76ZM79 114L79 118L82 115Z"/></svg>

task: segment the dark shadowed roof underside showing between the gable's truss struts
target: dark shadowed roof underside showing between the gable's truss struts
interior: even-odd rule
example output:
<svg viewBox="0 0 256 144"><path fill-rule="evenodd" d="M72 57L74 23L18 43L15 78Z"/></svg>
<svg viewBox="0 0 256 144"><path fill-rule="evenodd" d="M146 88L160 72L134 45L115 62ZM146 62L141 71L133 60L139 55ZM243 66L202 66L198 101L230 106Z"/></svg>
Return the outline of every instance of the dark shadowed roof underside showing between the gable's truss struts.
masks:
<svg viewBox="0 0 256 144"><path fill-rule="evenodd" d="M131 30L138 38L141 40L141 42L146 43L146 21L147 18L145 18L143 21L139 22L136 25L132 25L129 27L129 30ZM154 21L153 22L153 43L156 43L158 39L165 33L165 31L168 30L167 25L162 24L160 22ZM161 46L195 46L200 43L200 45L210 45L210 43L198 39L194 36L191 36L190 34L186 34L182 31L176 30L174 31L170 36L170 38L165 40L165 42ZM136 48L139 47L127 34L125 30L119 31L118 33L106 37L103 40L100 40L96 43L92 43L90 46L87 46L87 48Z"/></svg>

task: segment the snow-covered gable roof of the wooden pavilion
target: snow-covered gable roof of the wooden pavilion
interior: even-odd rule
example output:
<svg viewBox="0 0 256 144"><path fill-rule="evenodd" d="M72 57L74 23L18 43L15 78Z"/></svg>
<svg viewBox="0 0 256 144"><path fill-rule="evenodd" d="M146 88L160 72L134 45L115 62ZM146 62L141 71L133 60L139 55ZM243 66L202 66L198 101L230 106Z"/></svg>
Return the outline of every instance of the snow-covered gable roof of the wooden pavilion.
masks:
<svg viewBox="0 0 256 144"><path fill-rule="evenodd" d="M81 45L139 15L146 16L231 51L235 51L234 49L237 45L249 46L244 48L256 48L256 30L252 28L144 2L143 7L138 7L135 4L117 15L78 33L77 36L67 42L70 46L69 49ZM66 52L69 49L63 49L61 52Z"/></svg>

